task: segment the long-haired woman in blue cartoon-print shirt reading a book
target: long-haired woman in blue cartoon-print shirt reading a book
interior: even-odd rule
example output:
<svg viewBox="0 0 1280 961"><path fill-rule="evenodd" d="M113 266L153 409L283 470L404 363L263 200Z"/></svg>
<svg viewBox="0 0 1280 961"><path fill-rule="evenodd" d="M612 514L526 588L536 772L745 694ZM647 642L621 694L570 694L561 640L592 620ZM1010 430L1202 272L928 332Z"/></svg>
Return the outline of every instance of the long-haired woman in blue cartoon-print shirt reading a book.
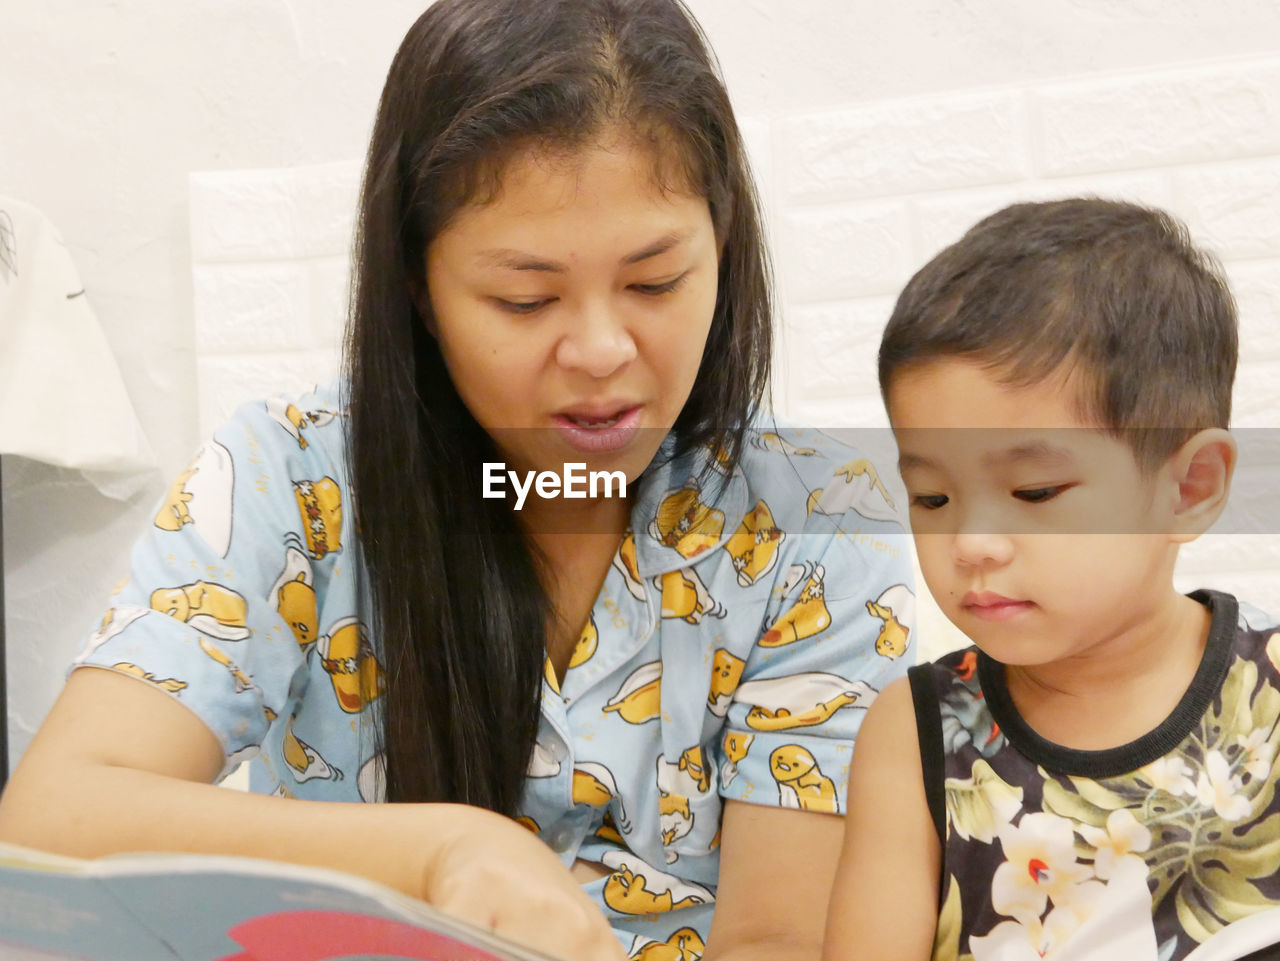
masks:
<svg viewBox="0 0 1280 961"><path fill-rule="evenodd" d="M765 257L689 14L433 5L355 270L346 381L174 482L0 837L340 868L563 957L817 957L910 581L874 467L758 411ZM259 793L210 788L250 756Z"/></svg>

